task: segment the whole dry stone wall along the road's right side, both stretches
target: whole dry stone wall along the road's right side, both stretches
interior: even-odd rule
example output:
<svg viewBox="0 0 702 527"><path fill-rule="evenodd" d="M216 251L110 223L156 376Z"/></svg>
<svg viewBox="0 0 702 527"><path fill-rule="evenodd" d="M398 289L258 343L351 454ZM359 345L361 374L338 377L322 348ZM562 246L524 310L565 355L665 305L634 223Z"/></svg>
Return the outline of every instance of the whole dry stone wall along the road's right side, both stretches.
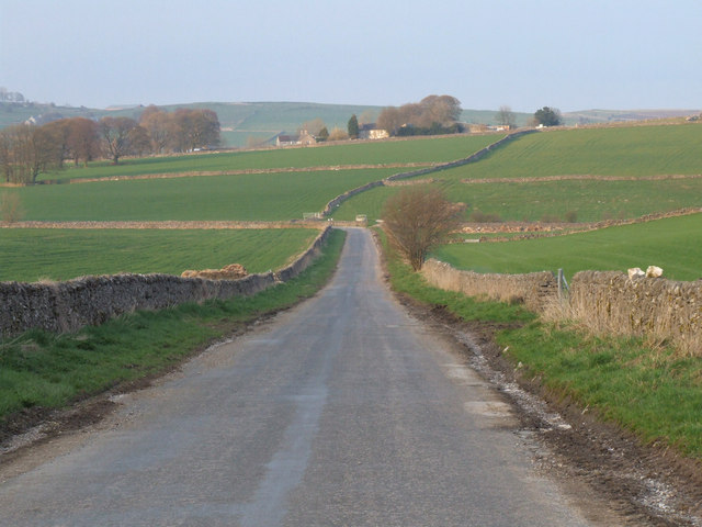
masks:
<svg viewBox="0 0 702 527"><path fill-rule="evenodd" d="M524 306L550 318L575 319L596 334L634 335L669 340L699 356L702 341L702 280L634 278L621 271L580 271L569 293L558 298L551 271L488 274L458 270L430 259L422 267L427 282L468 296L487 296Z"/></svg>

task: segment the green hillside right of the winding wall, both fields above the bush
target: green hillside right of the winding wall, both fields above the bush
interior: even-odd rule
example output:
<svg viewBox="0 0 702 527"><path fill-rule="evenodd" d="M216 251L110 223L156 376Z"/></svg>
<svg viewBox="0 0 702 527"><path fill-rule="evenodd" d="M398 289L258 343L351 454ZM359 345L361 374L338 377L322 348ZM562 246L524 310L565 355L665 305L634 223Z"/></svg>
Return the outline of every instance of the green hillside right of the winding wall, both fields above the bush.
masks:
<svg viewBox="0 0 702 527"><path fill-rule="evenodd" d="M520 137L478 162L431 177L452 201L468 205L466 218L480 211L503 221L564 221L575 214L578 222L595 222L702 206L702 178L644 179L702 175L701 152L702 125L559 130ZM632 180L529 181L570 175ZM462 182L496 178L514 181ZM361 213L374 220L398 190L358 195L335 216L350 220Z"/></svg>

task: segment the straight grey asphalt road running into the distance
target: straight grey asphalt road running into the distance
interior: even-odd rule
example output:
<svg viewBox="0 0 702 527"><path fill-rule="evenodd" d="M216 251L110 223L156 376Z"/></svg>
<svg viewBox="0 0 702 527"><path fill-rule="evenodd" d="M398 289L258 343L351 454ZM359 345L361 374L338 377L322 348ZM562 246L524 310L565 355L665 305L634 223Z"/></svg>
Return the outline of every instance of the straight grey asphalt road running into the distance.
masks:
<svg viewBox="0 0 702 527"><path fill-rule="evenodd" d="M315 299L121 403L0 483L0 525L589 525L361 229Z"/></svg>

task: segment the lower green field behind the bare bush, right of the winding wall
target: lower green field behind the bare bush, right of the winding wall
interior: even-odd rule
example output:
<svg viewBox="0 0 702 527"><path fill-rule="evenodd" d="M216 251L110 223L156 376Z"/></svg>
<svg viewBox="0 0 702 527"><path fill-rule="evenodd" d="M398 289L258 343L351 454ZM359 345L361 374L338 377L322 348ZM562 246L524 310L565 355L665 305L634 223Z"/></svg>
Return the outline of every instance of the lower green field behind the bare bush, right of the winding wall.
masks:
<svg viewBox="0 0 702 527"><path fill-rule="evenodd" d="M442 178L443 172L434 175ZM466 203L466 221L475 211L502 221L577 222L634 218L655 212L702 206L702 178L664 181L550 181L465 184L437 181L451 201ZM385 200L399 187L376 188L353 197L335 212L337 220L381 216Z"/></svg>

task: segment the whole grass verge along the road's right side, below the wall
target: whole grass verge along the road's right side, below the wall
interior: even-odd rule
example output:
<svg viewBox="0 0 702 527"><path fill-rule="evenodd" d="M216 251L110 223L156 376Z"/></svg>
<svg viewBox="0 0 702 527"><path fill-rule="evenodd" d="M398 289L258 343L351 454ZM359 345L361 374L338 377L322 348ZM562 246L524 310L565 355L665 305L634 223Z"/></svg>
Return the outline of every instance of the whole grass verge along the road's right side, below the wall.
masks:
<svg viewBox="0 0 702 527"><path fill-rule="evenodd" d="M568 323L545 323L519 305L464 296L426 284L386 247L394 290L495 332L520 375L554 401L575 403L634 433L644 444L702 460L702 359L642 339L595 337Z"/></svg>

